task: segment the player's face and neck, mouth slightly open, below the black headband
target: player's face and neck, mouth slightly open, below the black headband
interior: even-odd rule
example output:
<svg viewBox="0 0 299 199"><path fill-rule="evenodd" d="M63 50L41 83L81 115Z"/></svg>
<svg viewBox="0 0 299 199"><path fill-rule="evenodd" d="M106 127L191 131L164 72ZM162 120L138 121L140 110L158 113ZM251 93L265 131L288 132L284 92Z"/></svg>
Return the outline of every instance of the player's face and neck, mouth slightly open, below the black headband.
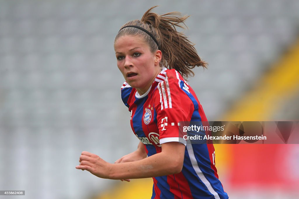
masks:
<svg viewBox="0 0 299 199"><path fill-rule="evenodd" d="M160 73L160 50L152 53L141 36L121 36L114 44L117 66L126 82L144 94Z"/></svg>

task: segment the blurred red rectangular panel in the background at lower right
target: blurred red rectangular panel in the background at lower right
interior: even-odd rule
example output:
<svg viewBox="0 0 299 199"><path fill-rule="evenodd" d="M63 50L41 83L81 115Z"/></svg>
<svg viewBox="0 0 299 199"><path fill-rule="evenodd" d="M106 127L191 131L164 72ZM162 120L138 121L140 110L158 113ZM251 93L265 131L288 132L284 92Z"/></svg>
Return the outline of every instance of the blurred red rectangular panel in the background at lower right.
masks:
<svg viewBox="0 0 299 199"><path fill-rule="evenodd" d="M298 189L298 144L231 144L230 147L229 181L235 188Z"/></svg>

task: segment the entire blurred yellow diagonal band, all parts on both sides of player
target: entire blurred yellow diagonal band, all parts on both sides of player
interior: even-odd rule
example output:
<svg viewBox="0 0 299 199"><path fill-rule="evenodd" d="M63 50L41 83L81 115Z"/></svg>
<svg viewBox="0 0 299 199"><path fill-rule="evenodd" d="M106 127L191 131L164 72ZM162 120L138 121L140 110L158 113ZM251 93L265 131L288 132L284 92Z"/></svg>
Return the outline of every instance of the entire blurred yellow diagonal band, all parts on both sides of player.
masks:
<svg viewBox="0 0 299 199"><path fill-rule="evenodd" d="M267 121L280 104L299 91L299 40L257 81L254 88L239 99L222 121ZM225 176L231 156L230 145L215 144L219 179ZM144 199L152 196L152 178L120 182L94 199Z"/></svg>

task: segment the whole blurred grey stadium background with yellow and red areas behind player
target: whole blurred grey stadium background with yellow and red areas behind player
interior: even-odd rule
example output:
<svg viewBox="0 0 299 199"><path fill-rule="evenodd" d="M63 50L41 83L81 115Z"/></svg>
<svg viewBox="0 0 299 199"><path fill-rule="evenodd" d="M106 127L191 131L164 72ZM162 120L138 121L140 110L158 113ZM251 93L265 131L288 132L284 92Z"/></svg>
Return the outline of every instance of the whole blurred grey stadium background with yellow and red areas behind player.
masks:
<svg viewBox="0 0 299 199"><path fill-rule="evenodd" d="M113 42L154 5L190 15L208 70L189 78L210 121L299 121L299 1L0 0L0 198L150 198L75 169L82 151L113 163L137 148ZM298 132L296 132L298 133ZM215 145L230 198L299 198L299 145Z"/></svg>

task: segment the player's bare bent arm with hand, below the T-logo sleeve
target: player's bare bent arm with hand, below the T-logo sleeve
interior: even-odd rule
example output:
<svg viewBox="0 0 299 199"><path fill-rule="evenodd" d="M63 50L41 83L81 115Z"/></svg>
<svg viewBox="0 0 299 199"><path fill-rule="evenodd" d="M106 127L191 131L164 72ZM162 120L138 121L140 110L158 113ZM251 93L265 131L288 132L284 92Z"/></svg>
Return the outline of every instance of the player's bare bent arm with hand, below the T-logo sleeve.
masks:
<svg viewBox="0 0 299 199"><path fill-rule="evenodd" d="M162 151L142 160L112 164L99 156L82 152L80 165L76 169L87 170L100 178L134 179L171 175L181 172L184 162L185 145L167 142L161 145Z"/></svg>

